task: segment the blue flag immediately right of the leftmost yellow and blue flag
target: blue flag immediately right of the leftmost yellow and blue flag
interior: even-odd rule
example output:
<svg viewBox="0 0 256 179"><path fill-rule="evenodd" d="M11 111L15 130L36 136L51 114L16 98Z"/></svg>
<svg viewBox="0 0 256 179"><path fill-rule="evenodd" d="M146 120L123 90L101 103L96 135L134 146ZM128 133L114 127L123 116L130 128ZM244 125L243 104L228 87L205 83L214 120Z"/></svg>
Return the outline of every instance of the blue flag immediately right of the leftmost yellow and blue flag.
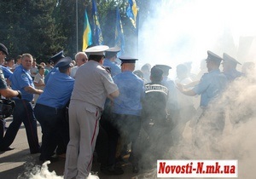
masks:
<svg viewBox="0 0 256 179"><path fill-rule="evenodd" d="M97 7L96 7L96 1L92 0L92 17L93 17L93 25L92 25L92 37L93 37L93 43L95 45L102 45L103 44L103 37L102 37L102 30L97 14Z"/></svg>

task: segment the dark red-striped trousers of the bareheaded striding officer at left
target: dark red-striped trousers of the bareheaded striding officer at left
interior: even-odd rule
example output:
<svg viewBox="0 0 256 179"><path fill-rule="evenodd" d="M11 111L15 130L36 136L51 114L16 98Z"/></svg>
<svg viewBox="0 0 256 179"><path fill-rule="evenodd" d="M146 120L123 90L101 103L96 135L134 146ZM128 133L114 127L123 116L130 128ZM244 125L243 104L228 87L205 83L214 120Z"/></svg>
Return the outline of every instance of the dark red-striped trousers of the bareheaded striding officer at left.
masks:
<svg viewBox="0 0 256 179"><path fill-rule="evenodd" d="M32 103L31 101L18 99L15 99L14 101L16 106L13 113L13 122L9 124L8 130L6 130L1 147L7 148L12 144L20 129L20 125L23 122L26 128L26 137L30 153L39 153L40 146L38 143L37 120L34 116Z"/></svg>

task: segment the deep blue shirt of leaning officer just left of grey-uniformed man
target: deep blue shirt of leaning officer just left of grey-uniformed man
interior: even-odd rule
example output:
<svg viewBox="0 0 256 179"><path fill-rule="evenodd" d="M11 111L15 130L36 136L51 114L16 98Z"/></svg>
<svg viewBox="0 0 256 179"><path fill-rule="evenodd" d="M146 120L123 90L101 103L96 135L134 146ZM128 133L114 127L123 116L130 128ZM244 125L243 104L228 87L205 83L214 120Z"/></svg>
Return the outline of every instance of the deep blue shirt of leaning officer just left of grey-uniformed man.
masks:
<svg viewBox="0 0 256 179"><path fill-rule="evenodd" d="M39 95L38 104L62 108L67 105L73 91L74 78L62 72L51 72L44 93Z"/></svg>

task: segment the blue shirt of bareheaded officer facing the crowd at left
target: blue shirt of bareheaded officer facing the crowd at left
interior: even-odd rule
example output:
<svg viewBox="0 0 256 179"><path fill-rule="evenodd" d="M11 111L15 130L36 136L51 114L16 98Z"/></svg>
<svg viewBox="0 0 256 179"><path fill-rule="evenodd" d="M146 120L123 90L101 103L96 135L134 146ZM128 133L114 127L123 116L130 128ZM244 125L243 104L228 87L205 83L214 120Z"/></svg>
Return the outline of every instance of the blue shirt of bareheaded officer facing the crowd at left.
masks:
<svg viewBox="0 0 256 179"><path fill-rule="evenodd" d="M13 90L20 90L22 94L22 99L32 101L34 95L26 92L26 90L24 89L26 86L31 86L32 88L35 88L29 70L24 69L23 66L17 66L15 68L15 72L9 78L9 80L12 83Z"/></svg>

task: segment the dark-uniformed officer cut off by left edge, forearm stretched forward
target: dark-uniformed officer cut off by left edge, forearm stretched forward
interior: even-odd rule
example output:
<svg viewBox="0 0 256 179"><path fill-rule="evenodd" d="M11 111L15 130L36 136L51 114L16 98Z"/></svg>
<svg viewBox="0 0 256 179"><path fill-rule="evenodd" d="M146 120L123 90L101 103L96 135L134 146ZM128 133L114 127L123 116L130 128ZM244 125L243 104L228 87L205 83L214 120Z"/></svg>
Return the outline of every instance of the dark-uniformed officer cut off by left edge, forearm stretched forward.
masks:
<svg viewBox="0 0 256 179"><path fill-rule="evenodd" d="M0 61L3 61L5 56L8 55L8 49L3 45L3 43L0 43ZM6 81L3 76L3 71L0 69L0 95L3 95L4 97L15 97L17 96L19 99L21 98L21 93L19 90L11 90L7 87ZM2 110L1 110L2 111ZM4 132L4 120L3 116L0 113L0 151L9 151L14 148L12 147L4 147L2 144L3 141L3 132Z"/></svg>

